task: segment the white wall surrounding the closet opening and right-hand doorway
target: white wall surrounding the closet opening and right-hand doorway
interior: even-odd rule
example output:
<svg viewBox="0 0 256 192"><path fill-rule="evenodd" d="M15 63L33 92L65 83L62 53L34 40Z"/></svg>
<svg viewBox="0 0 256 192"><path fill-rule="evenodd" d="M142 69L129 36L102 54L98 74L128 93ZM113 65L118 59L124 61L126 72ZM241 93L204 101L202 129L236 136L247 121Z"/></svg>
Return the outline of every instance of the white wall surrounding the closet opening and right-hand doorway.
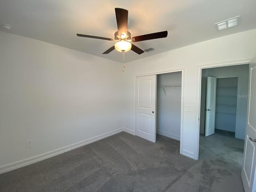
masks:
<svg viewBox="0 0 256 192"><path fill-rule="evenodd" d="M171 36L171 33L169 35ZM255 40L256 30L250 30L127 63L124 86L124 107L126 109L124 127L131 131L135 130L134 77L136 75L184 69L184 108L186 109L186 105L195 106L195 112L184 110L183 133L181 134L183 145L181 145L180 150L186 156L198 158L200 109L198 67L200 65L220 66L224 65L223 63L248 62L256 53Z"/></svg>

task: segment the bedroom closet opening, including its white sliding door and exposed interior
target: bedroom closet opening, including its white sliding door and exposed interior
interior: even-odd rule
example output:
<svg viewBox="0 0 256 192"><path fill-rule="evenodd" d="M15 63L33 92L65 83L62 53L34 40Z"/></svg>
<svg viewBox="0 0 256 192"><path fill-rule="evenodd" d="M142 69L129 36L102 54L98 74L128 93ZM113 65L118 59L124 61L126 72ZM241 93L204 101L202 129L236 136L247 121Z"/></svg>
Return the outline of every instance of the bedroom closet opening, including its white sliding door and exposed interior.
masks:
<svg viewBox="0 0 256 192"><path fill-rule="evenodd" d="M156 133L180 141L183 70L135 77L135 135L156 142Z"/></svg>

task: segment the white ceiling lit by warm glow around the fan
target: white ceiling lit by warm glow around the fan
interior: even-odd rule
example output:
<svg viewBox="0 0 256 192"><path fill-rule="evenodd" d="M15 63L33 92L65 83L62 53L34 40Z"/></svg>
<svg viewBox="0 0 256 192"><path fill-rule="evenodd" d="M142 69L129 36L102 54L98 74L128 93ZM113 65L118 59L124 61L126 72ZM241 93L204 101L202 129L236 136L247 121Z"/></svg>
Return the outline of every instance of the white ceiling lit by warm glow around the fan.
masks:
<svg viewBox="0 0 256 192"><path fill-rule="evenodd" d="M1 0L0 23L12 30L0 30L122 61L116 50L102 55L114 42L76 36L114 38L115 7L129 11L132 36L168 30L167 38L134 42L155 50L141 55L128 51L126 62L256 28L256 0ZM239 26L216 31L215 23L239 15Z"/></svg>

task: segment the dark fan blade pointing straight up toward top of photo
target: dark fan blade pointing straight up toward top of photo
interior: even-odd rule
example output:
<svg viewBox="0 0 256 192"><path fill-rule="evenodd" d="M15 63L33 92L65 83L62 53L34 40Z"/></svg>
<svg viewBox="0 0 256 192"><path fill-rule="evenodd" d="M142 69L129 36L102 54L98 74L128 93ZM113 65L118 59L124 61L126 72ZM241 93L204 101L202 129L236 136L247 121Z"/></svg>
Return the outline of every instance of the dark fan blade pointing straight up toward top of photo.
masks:
<svg viewBox="0 0 256 192"><path fill-rule="evenodd" d="M115 8L116 11L116 23L118 28L118 35L127 34L128 26L128 10Z"/></svg>

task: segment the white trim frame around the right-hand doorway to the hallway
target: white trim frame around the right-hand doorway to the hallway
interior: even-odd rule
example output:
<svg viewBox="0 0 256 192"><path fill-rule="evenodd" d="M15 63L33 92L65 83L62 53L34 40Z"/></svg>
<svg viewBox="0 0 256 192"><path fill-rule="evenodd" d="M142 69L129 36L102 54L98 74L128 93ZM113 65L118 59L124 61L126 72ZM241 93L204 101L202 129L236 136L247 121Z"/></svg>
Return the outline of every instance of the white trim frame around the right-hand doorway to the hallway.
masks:
<svg viewBox="0 0 256 192"><path fill-rule="evenodd" d="M199 157L199 136L200 136L200 105L201 105L201 79L202 79L202 69L208 69L208 68L215 68L215 67L225 67L225 66L232 66L232 65L245 65L250 63L251 59L244 59L244 60L238 60L238 61L230 61L230 62L222 62L222 63L215 63L215 64L206 64L206 65L199 65L198 66L198 82L197 82L197 103L196 103L196 109L198 110L197 118L197 147L196 147L196 160L198 160ZM181 146L181 145L180 145Z"/></svg>

